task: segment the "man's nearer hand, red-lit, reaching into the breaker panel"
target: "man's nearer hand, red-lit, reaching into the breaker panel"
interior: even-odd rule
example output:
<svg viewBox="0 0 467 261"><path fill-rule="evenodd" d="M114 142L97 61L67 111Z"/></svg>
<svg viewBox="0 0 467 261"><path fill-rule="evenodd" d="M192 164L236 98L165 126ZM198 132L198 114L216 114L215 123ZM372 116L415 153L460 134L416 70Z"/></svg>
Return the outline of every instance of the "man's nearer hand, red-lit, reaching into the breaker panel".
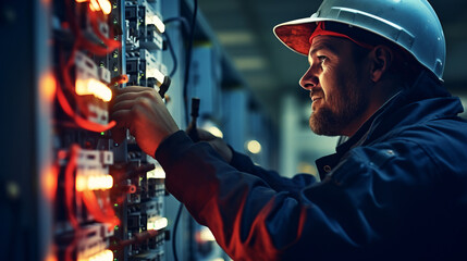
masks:
<svg viewBox="0 0 467 261"><path fill-rule="evenodd" d="M110 117L116 122L114 133L127 127L139 148L153 157L160 142L179 130L159 94L153 88L130 86L115 95L110 109Z"/></svg>

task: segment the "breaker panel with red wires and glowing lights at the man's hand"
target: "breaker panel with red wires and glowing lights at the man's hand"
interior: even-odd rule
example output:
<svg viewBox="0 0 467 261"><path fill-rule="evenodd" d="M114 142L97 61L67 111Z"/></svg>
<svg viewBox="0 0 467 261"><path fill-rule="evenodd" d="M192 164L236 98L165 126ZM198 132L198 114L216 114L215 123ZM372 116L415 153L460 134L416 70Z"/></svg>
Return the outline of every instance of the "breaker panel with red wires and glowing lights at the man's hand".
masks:
<svg viewBox="0 0 467 261"><path fill-rule="evenodd" d="M164 173L126 134L113 90L167 88L159 0L53 0L53 260L165 260Z"/></svg>

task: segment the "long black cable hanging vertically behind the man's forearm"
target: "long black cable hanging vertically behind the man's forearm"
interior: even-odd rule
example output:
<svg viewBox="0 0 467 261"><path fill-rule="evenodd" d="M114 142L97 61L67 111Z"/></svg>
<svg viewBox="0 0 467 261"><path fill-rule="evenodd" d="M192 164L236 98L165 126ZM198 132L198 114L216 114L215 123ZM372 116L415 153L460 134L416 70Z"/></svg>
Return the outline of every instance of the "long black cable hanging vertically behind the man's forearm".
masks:
<svg viewBox="0 0 467 261"><path fill-rule="evenodd" d="M196 28L196 16L198 14L198 0L194 0L194 8L193 8L193 17L192 17L192 29L189 30L189 42L188 48L186 52L186 59L185 59L185 78L183 84L183 101L185 105L185 122L186 125L188 125L188 77L189 77L189 67L192 63L192 51L193 51L193 40L195 38L195 28ZM175 17L177 18L177 17ZM183 21L183 20L180 20ZM183 22L182 22L183 23ZM173 238L172 238L172 250L173 250L173 258L175 261L179 261L179 257L176 254L176 228L179 226L180 216L182 214L183 203L180 203L179 211L176 213L175 223L173 224Z"/></svg>

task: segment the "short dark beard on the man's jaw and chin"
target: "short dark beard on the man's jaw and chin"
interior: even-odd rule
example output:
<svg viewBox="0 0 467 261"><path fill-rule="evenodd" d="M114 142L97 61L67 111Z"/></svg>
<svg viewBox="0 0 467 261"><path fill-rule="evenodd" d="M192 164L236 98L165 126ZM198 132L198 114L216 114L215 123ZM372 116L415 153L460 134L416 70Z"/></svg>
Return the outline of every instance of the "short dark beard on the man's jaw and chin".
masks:
<svg viewBox="0 0 467 261"><path fill-rule="evenodd" d="M366 91L358 91L357 86L346 87L346 94L341 92L336 100L330 100L311 113L309 125L314 133L325 136L343 135L346 127L365 112L368 107ZM334 110L330 104L335 104Z"/></svg>

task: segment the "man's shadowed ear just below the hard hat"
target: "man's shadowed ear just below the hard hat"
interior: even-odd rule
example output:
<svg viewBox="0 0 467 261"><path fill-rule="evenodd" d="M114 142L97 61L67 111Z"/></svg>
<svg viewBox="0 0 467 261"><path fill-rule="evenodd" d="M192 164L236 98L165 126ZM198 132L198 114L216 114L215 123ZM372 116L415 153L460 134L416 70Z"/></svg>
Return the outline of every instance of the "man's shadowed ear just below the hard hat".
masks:
<svg viewBox="0 0 467 261"><path fill-rule="evenodd" d="M377 83L386 73L393 63L394 53L386 46L377 46L370 52L370 78Z"/></svg>

